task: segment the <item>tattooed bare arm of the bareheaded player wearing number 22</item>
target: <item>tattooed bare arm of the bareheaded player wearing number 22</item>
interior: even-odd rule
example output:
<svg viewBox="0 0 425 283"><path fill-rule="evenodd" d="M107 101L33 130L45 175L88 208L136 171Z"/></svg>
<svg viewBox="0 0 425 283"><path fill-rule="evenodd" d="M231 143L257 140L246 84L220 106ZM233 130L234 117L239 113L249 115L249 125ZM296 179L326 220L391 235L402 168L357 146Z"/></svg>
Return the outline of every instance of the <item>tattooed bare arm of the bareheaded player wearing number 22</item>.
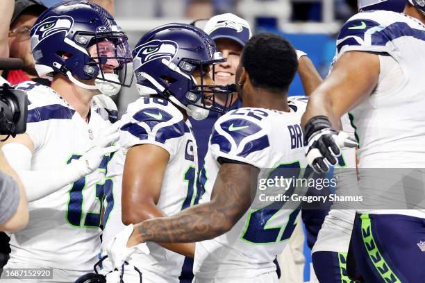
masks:
<svg viewBox="0 0 425 283"><path fill-rule="evenodd" d="M188 243L224 234L251 205L257 175L258 169L248 164L223 164L209 203L139 223L133 237L139 242Z"/></svg>

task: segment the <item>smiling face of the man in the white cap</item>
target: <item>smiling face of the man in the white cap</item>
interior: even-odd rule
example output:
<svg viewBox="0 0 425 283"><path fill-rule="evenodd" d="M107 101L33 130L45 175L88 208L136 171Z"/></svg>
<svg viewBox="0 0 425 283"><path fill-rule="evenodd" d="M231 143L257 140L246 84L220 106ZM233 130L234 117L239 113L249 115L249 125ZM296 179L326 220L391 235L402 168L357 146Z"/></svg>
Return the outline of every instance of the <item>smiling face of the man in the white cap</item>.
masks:
<svg viewBox="0 0 425 283"><path fill-rule="evenodd" d="M235 83L236 68L238 68L242 46L234 40L219 38L215 40L218 51L223 53L227 61L215 65L215 83L217 85L231 85Z"/></svg>

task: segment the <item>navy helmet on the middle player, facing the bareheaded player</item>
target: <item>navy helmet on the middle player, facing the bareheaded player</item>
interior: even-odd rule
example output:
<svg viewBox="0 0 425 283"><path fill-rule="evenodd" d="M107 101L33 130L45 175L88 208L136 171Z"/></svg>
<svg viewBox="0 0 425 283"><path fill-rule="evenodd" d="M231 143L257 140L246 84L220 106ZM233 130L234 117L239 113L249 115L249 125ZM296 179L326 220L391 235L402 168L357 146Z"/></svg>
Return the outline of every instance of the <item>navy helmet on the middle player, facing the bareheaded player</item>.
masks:
<svg viewBox="0 0 425 283"><path fill-rule="evenodd" d="M226 59L201 29L189 24L160 26L139 40L132 55L140 95L159 94L197 120L206 118L209 110L226 112L235 85L207 85L203 81L209 67ZM199 82L193 76L196 69ZM215 94L225 95L225 105L216 103Z"/></svg>

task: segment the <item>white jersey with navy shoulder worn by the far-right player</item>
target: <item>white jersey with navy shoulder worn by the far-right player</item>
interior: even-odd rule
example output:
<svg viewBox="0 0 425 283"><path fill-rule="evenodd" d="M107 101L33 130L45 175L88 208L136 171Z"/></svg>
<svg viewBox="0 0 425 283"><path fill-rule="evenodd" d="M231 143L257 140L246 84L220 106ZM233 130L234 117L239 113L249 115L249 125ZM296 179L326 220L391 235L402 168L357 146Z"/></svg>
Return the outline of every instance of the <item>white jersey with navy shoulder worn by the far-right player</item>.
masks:
<svg viewBox="0 0 425 283"><path fill-rule="evenodd" d="M425 217L425 211L397 210L424 207L424 173L410 176L422 182L422 187L415 183L414 189L407 189L409 185L401 184L403 177L397 175L397 171L394 175L392 171L376 170L425 168L425 111L422 107L425 105L425 80L422 78L425 74L425 26L397 12L362 12L342 27L335 59L347 51L378 53L381 69L374 92L349 112L359 143L360 189L366 200L365 209L360 212ZM372 172L370 168L375 170ZM377 174L381 175L381 180ZM368 178L368 175L373 176ZM394 184L399 184L398 191ZM406 196L405 189L409 191ZM422 189L422 205L417 204L416 197L409 196L419 189ZM393 192L399 195L388 198ZM380 207L386 210L378 209ZM394 209L388 209L391 207Z"/></svg>

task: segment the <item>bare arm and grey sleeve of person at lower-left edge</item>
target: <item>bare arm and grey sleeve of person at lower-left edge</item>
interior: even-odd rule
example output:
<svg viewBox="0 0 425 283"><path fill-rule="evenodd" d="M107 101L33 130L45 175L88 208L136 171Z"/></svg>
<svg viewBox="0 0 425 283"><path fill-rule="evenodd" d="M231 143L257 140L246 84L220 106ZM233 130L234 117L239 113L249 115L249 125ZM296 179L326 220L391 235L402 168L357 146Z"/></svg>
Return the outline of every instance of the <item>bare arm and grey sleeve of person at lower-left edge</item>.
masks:
<svg viewBox="0 0 425 283"><path fill-rule="evenodd" d="M15 232L28 223L24 186L0 151L0 231Z"/></svg>

